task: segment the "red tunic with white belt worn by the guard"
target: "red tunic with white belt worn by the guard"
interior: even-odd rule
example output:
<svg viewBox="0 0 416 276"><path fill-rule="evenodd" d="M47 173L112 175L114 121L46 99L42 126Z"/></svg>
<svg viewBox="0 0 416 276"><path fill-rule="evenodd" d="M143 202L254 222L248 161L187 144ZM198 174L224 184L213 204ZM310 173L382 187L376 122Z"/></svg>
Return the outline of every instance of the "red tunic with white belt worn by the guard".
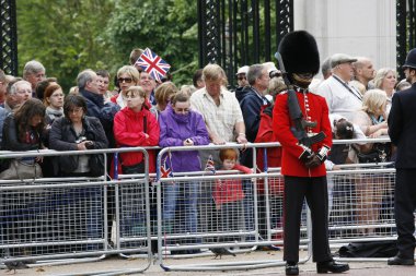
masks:
<svg viewBox="0 0 416 276"><path fill-rule="evenodd" d="M315 128L308 128L312 133L323 131L326 137L312 145L312 151L317 153L324 145L331 148L332 146L332 131L328 117L328 107L324 97L312 94L297 92L300 109L305 119L309 121L316 121ZM305 103L308 101L308 103ZM281 93L276 97L275 108L273 110L273 131L275 136L282 146L281 159L281 173L284 176L292 177L322 177L326 175L325 165L322 164L312 169L308 169L299 157L304 152L303 147L298 144L290 128L293 122L289 117L288 109L288 93ZM305 104L309 105L307 110Z"/></svg>

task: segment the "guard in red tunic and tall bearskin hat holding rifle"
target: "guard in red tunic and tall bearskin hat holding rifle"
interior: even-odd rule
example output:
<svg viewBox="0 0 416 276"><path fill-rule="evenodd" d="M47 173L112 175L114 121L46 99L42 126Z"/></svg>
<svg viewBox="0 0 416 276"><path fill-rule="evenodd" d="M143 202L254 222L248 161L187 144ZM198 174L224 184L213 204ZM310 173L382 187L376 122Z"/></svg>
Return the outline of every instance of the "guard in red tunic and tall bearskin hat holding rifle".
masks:
<svg viewBox="0 0 416 276"><path fill-rule="evenodd" d="M299 275L300 223L304 199L312 214L313 261L316 262L317 273L346 272L349 266L332 259L328 242L328 194L324 165L332 145L328 108L323 97L308 89L320 70L315 38L305 31L289 33L278 47L278 59L279 53L280 70L289 89L276 97L273 131L282 146L286 275ZM300 109L300 117L298 111L292 112L297 109ZM300 119L303 121L299 124ZM320 133L320 139L313 142L303 139L314 136L314 133Z"/></svg>

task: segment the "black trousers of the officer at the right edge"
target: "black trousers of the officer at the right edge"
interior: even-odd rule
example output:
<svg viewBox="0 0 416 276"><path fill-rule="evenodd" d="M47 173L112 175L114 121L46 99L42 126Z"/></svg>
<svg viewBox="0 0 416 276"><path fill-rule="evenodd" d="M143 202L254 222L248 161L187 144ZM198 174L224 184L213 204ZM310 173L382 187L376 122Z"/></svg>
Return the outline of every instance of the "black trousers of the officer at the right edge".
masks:
<svg viewBox="0 0 416 276"><path fill-rule="evenodd" d="M394 189L394 216L397 226L398 254L404 259L414 259L416 208L416 169L396 169Z"/></svg>

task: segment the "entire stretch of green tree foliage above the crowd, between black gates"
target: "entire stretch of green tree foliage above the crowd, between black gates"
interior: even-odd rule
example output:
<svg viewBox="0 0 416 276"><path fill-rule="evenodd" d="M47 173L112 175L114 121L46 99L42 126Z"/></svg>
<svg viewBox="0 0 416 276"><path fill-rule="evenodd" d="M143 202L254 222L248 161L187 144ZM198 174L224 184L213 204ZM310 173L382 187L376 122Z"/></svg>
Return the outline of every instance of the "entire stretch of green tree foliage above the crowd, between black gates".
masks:
<svg viewBox="0 0 416 276"><path fill-rule="evenodd" d="M66 91L86 68L113 74L132 48L151 48L177 84L197 68L194 0L24 0L18 2L19 64L36 59Z"/></svg>

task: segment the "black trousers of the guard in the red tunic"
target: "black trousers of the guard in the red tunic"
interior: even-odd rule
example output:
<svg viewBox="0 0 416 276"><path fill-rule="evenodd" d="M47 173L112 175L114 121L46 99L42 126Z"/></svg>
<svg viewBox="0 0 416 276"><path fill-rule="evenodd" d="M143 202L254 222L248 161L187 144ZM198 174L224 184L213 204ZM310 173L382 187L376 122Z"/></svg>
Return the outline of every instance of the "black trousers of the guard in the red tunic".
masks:
<svg viewBox="0 0 416 276"><path fill-rule="evenodd" d="M301 213L304 199L312 217L313 261L332 260L328 243L328 194L326 177L285 176L284 229L285 253L287 262L299 261L299 239Z"/></svg>

